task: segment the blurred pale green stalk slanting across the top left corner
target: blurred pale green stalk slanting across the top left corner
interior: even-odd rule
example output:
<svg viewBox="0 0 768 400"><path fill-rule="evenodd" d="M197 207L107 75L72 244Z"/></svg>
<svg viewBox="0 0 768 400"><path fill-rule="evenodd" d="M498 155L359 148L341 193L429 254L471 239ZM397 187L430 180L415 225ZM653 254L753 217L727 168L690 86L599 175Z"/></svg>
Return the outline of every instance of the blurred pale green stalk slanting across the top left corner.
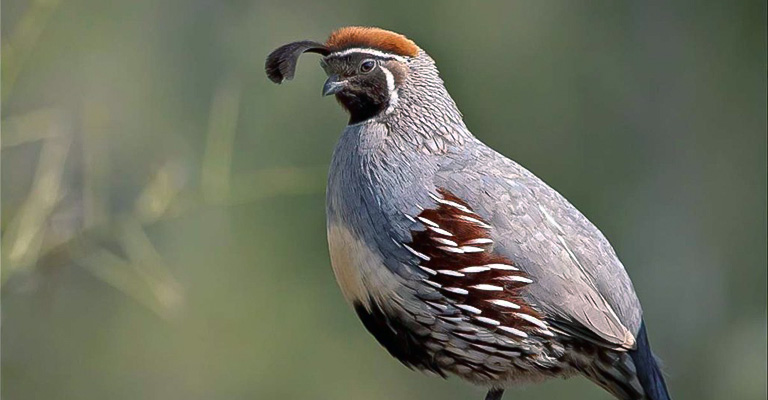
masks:
<svg viewBox="0 0 768 400"><path fill-rule="evenodd" d="M33 1L29 9L19 19L10 38L2 44L2 102L5 103L16 83L22 67L26 63L32 49L35 48L45 26L59 6L59 0Z"/></svg>

